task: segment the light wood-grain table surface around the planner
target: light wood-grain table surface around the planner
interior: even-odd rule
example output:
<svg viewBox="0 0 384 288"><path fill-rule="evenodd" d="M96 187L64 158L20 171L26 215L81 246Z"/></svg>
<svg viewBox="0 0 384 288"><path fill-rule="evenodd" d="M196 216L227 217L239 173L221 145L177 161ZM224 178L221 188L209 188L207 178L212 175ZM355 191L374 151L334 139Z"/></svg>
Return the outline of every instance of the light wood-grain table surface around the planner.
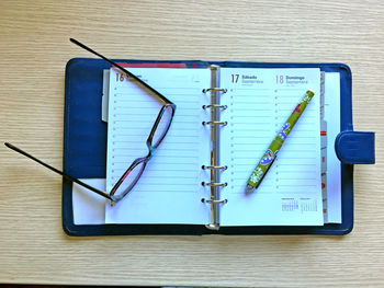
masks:
<svg viewBox="0 0 384 288"><path fill-rule="evenodd" d="M70 238L60 177L0 148L0 283L384 286L383 1L0 1L0 140L61 168L64 72L91 57L340 61L353 72L355 130L376 131L357 165L346 237Z"/></svg>

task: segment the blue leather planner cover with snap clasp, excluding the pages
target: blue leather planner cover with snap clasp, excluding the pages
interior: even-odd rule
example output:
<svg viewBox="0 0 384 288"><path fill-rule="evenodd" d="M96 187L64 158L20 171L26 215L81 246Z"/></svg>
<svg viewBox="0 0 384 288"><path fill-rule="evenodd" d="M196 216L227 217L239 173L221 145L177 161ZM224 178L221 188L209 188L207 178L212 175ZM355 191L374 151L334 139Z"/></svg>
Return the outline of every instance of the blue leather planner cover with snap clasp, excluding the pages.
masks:
<svg viewBox="0 0 384 288"><path fill-rule="evenodd" d="M343 64L271 64L271 62L207 62L116 60L129 64L184 64L201 68L212 64L244 68L320 68L340 73L341 127L336 151L341 165L342 223L321 227L223 227L212 231L204 226L182 224L98 224L74 223L71 182L63 180L63 227L69 235L117 234L346 234L353 227L353 165L374 162L374 134L352 129L351 71ZM103 69L110 65L102 59L74 58L66 67L64 171L75 177L105 177L106 125L101 122ZM357 149L358 147L358 149ZM362 148L362 149L361 149Z"/></svg>

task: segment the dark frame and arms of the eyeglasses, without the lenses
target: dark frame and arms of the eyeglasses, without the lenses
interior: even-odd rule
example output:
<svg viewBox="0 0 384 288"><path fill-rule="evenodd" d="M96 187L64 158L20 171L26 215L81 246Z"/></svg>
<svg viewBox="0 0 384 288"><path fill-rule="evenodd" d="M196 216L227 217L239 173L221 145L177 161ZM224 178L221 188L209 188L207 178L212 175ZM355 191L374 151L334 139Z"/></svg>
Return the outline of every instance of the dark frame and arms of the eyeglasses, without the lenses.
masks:
<svg viewBox="0 0 384 288"><path fill-rule="evenodd" d="M162 105L162 107L161 107L159 114L157 115L157 118L156 118L156 120L155 120L155 123L154 123L154 126L153 126L153 128L151 128L151 130L150 130L150 134L149 134L149 136L148 136L148 139L147 139L147 141L146 141L146 145L147 145L148 150L149 150L149 151L148 151L148 154L147 154L146 157L137 158L136 160L134 160L134 161L132 162L132 164L129 165L129 168L124 172L124 174L120 177L120 180L118 180L118 181L115 183L115 185L112 187L111 192L110 192L110 193L106 193L106 192L100 191L100 189L98 189L98 188L94 188L94 187L88 185L87 183L84 183L84 182L82 182L82 181L80 181L80 180L78 180L78 178L75 178L75 177L72 177L72 176L70 176L70 175L68 175L68 174L66 174L66 173L64 173L63 171L60 171L60 170L58 170L58 169L56 169L56 168L54 168L54 166L52 166L52 165L49 165L49 164L43 162L42 160L39 160L39 159L33 157L32 154L30 154L30 153L23 151L22 149L15 147L15 146L13 146L13 145L11 145L11 143L9 143L9 142L4 142L4 145L5 145L8 148L10 148L10 149L12 149L12 150L14 150L14 151L16 151L16 152L19 152L19 153L21 153L21 154L27 157L27 158L34 160L35 162L42 164L43 166L45 166L45 168L47 168L47 169L49 169L49 170L52 170L52 171L54 171L54 172L60 174L61 176L68 178L69 181L75 182L75 183L77 183L77 184L79 184L79 185L81 185L81 186L83 186L83 187L86 187L86 188L88 188L88 189L90 189L90 191L92 191L92 192L99 194L100 196L105 197L106 199L111 200L112 203L117 203L117 201L120 201L121 199L123 199L123 198L133 189L133 187L137 184L137 182L138 182L138 180L140 178L140 176L142 176L142 174L143 174L143 172L144 172L144 170L145 170L145 168L146 168L148 161L153 158L155 150L157 149L157 147L159 147L159 145L162 142L163 138L165 138L166 135L168 134L168 130L169 130L169 128L170 128L170 126L171 126L171 124L172 124L172 120L173 120L173 116L174 116L174 112L176 112L176 104L172 103L170 100L168 100L166 96L163 96L160 92L158 92L157 90L155 90L153 87L150 87L149 84L147 84L146 82L144 82L142 79L139 79L138 77L136 77L135 74L133 74L132 72L129 72L128 70L126 70L126 69L125 69L124 67L122 67L121 65L114 62L113 60L111 60L111 59L109 59L109 58L106 58L106 57L104 57L103 55L97 53L95 50L89 48L88 46L83 45L82 43L80 43L80 42L78 42L78 41L76 41L76 39L74 39L74 38L70 38L70 42L72 42L72 43L75 43L76 45L80 46L81 48L83 48L83 49L86 49L86 50L88 50L88 51L90 51L90 53L92 53L92 54L99 56L100 58L106 60L106 61L110 62L112 66L117 67L117 68L118 68L123 73L125 73L128 78L131 77L131 78L135 79L136 81L138 81L140 84L143 84L143 85L144 85L145 88L147 88L149 91L154 92L154 94L155 94L158 99L160 99L161 101L163 101L163 102L166 103L166 104ZM171 114L170 120L169 120L169 123L168 123L168 127L165 129L162 137L157 141L157 143L156 143L155 146L153 146L154 135L155 135L155 133L156 133L156 129L157 129L157 127L158 127L158 125L159 125L159 123L160 123L160 120L161 120L161 117L162 117L165 111L166 111L168 107L170 107L170 108L172 110L172 112L171 112L172 114ZM142 168L142 171L139 172L138 175L136 175L135 180L134 180L133 183L129 185L129 187L128 187L126 191L124 191L123 194L115 196L114 194L116 193L117 188L118 188L120 185L123 183L123 181L125 180L125 177L126 177L138 164L140 164L142 162L144 162L143 168Z"/></svg>

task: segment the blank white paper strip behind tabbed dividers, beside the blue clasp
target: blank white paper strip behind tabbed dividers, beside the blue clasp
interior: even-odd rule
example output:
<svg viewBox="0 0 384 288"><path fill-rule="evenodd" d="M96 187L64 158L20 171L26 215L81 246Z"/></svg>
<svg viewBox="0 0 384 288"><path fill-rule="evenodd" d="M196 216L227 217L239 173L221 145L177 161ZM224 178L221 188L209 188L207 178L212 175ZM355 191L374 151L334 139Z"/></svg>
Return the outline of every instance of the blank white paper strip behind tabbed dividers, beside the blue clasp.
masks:
<svg viewBox="0 0 384 288"><path fill-rule="evenodd" d="M327 222L341 223L341 164L335 152L340 133L340 74L325 73L324 118L327 122Z"/></svg>

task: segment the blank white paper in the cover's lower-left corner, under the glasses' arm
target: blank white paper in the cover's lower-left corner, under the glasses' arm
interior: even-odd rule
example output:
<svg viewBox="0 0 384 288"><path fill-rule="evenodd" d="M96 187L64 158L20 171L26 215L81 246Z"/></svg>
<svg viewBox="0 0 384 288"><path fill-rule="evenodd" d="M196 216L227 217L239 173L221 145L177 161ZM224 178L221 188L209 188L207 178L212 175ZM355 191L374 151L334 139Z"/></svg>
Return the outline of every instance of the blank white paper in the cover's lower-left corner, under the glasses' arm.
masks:
<svg viewBox="0 0 384 288"><path fill-rule="evenodd" d="M105 189L105 178L81 178L100 191ZM75 224L105 223L105 198L76 183L72 185L72 207Z"/></svg>

